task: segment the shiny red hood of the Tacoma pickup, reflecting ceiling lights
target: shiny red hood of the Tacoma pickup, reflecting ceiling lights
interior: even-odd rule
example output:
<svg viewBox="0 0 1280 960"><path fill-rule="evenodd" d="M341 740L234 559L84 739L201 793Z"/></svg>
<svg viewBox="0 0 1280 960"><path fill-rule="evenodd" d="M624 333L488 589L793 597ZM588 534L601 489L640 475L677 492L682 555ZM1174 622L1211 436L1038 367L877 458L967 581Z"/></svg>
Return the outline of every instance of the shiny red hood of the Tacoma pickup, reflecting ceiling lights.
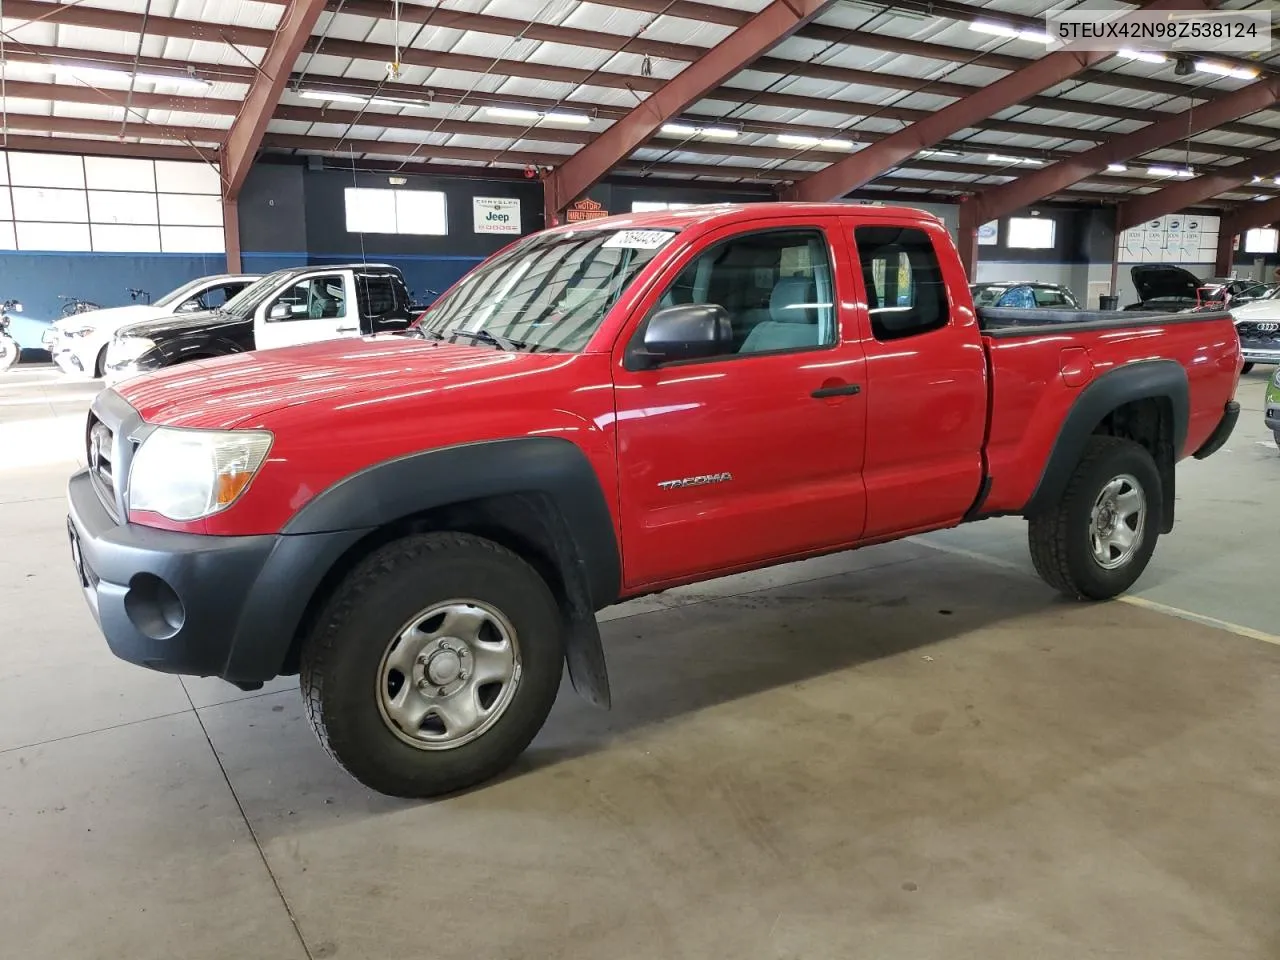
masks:
<svg viewBox="0 0 1280 960"><path fill-rule="evenodd" d="M488 383L509 387L513 378L562 367L576 356L362 337L179 364L115 390L148 422L229 429L301 403L351 404L370 393L389 403Z"/></svg>

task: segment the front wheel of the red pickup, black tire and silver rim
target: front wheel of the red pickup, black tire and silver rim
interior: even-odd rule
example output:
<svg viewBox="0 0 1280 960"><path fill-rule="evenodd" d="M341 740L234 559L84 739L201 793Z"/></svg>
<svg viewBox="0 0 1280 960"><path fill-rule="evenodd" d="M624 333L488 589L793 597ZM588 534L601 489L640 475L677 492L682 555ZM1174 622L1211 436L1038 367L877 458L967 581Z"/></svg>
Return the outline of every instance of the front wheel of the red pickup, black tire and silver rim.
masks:
<svg viewBox="0 0 1280 960"><path fill-rule="evenodd" d="M348 773L428 797L507 768L547 719L564 639L556 599L511 550L426 534L374 552L302 650L307 718Z"/></svg>

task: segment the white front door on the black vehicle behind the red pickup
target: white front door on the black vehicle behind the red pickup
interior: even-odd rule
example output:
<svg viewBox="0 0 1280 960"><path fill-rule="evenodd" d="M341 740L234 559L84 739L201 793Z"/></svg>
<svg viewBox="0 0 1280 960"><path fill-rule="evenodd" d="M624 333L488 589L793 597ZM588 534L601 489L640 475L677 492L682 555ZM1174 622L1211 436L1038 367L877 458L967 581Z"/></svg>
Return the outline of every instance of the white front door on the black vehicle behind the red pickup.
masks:
<svg viewBox="0 0 1280 960"><path fill-rule="evenodd" d="M253 320L257 349L292 347L360 335L360 316L349 270L311 274L259 307Z"/></svg>

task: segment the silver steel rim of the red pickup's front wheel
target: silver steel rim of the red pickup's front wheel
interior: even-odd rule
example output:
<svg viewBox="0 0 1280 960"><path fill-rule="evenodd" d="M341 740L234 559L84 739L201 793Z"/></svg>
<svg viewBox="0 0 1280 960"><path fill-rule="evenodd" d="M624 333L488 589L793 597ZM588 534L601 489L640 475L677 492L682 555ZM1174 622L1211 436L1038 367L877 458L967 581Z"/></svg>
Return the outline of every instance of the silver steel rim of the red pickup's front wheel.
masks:
<svg viewBox="0 0 1280 960"><path fill-rule="evenodd" d="M483 736L520 686L516 628L497 607L454 599L413 614L387 645L375 699L383 723L419 750Z"/></svg>

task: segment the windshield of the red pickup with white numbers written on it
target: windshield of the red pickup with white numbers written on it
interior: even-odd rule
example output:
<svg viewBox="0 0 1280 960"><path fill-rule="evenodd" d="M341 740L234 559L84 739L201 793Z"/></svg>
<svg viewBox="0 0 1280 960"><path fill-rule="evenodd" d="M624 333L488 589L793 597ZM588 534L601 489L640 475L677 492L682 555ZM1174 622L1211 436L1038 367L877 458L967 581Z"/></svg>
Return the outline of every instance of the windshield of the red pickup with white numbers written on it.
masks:
<svg viewBox="0 0 1280 960"><path fill-rule="evenodd" d="M584 349L675 230L539 234L481 264L431 305L416 333L511 349Z"/></svg>

